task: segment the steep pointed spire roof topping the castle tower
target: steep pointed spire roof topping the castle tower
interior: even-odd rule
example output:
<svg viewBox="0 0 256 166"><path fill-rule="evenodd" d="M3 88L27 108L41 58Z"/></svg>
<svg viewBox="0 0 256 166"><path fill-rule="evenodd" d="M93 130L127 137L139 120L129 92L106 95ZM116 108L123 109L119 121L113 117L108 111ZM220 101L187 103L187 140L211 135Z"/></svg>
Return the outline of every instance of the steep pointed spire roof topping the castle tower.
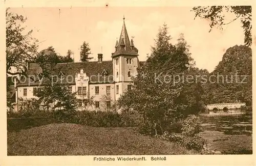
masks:
<svg viewBox="0 0 256 166"><path fill-rule="evenodd" d="M125 18L123 17L123 26L119 37L119 42L116 43L116 51L113 53L112 57L118 56L119 54L138 56L138 53L136 53L136 51L134 51L133 48L131 47L133 44L131 45L130 43L124 19Z"/></svg>

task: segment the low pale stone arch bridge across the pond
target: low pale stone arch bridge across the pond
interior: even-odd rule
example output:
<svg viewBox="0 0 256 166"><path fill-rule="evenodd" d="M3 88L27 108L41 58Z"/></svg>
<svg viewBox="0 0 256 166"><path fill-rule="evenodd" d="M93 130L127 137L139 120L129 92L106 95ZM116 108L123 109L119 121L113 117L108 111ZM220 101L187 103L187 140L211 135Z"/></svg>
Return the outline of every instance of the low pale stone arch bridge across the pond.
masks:
<svg viewBox="0 0 256 166"><path fill-rule="evenodd" d="M245 106L243 102L236 103L217 103L217 104L208 104L208 110L228 110L228 109L240 109Z"/></svg>

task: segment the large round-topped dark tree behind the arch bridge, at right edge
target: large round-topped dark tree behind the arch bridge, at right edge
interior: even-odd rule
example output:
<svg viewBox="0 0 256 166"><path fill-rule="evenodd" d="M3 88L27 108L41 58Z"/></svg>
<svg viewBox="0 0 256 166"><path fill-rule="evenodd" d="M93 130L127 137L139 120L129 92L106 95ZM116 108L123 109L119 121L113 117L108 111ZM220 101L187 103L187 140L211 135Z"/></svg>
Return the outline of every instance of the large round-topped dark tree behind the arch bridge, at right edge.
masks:
<svg viewBox="0 0 256 166"><path fill-rule="evenodd" d="M249 47L236 45L228 48L222 61L209 75L213 77L212 84L209 82L204 87L205 103L241 101L251 106L252 52Z"/></svg>

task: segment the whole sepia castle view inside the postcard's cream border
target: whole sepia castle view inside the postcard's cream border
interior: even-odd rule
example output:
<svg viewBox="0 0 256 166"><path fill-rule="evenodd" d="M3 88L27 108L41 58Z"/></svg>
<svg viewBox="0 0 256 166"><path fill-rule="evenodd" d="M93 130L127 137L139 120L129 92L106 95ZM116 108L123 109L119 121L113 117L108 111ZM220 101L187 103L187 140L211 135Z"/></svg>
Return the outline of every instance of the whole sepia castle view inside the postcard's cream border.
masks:
<svg viewBox="0 0 256 166"><path fill-rule="evenodd" d="M7 156L253 153L251 6L5 10Z"/></svg>

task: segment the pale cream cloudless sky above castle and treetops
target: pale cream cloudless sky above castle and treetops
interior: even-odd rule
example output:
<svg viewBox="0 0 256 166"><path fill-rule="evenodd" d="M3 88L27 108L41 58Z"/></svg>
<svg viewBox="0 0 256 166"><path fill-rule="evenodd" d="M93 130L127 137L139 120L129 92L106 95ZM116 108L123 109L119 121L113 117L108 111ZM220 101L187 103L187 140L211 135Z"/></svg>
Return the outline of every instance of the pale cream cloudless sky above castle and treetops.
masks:
<svg viewBox="0 0 256 166"><path fill-rule="evenodd" d="M61 56L68 49L74 51L75 62L80 60L80 46L89 43L91 57L103 53L103 61L112 60L119 39L123 15L130 40L139 50L139 61L151 53L159 27L169 27L172 43L177 43L180 33L190 45L191 57L196 67L214 70L225 51L234 45L244 44L244 34L239 20L221 31L214 27L209 33L209 21L195 17L192 7L69 7L69 8L11 8L10 11L26 16L26 31L39 40L39 51L53 46ZM226 22L234 18L226 15Z"/></svg>

